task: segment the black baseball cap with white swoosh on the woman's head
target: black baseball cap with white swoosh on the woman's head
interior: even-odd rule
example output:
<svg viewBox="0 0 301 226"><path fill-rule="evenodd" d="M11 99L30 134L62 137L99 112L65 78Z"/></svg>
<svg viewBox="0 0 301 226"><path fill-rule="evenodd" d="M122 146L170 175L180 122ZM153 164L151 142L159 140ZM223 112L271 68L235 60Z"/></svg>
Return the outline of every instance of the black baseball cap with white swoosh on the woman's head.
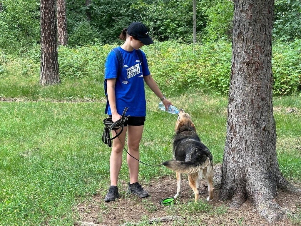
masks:
<svg viewBox="0 0 301 226"><path fill-rule="evenodd" d="M148 35L148 30L141 22L133 22L127 28L128 35L138 38L144 45L151 45L154 41Z"/></svg>

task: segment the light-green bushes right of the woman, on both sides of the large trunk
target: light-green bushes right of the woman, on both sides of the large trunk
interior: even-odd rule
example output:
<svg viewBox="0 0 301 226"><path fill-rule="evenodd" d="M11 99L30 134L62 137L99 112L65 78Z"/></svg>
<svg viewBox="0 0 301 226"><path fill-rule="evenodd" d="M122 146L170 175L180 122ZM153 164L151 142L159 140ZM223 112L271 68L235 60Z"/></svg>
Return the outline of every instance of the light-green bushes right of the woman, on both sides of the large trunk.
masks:
<svg viewBox="0 0 301 226"><path fill-rule="evenodd" d="M301 91L301 41L275 42L272 71L275 95ZM231 43L219 41L196 45L162 42L156 53L148 54L151 72L169 92L185 89L210 89L227 94L231 73Z"/></svg>

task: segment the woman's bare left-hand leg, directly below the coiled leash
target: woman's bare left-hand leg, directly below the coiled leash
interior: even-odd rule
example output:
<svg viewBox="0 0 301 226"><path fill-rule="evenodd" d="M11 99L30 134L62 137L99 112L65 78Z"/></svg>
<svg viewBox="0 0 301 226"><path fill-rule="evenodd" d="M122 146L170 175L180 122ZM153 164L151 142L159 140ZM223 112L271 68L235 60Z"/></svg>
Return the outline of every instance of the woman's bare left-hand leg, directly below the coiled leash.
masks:
<svg viewBox="0 0 301 226"><path fill-rule="evenodd" d="M110 179L111 185L117 186L117 179L122 164L122 151L126 139L127 127L123 127L123 131L118 137L112 140L112 151L110 156ZM117 133L120 130L116 130ZM116 131L112 130L112 136L116 136Z"/></svg>

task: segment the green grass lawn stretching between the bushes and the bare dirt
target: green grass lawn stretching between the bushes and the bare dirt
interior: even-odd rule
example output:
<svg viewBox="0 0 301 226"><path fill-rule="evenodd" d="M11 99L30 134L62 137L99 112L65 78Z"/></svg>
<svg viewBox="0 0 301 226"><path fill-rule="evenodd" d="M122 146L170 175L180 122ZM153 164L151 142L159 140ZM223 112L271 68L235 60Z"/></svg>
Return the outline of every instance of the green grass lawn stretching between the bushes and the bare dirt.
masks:
<svg viewBox="0 0 301 226"><path fill-rule="evenodd" d="M105 103L98 98L102 84L87 80L71 84L71 80L66 80L59 86L33 86L36 95L18 93L11 87L11 97L40 101L0 102L0 225L73 225L77 220L73 210L78 202L106 193L110 148L101 141L102 120L106 118ZM85 92L95 93L98 101L71 103L48 99L81 99L88 87ZM227 97L196 91L170 99L190 113L201 139L213 153L214 164L221 163ZM274 99L279 164L284 175L293 181L301 180L300 103L300 97ZM175 115L159 111L157 104L157 98L147 89L141 161L154 165L172 159L176 120ZM288 108L296 111L287 114ZM169 174L172 172L163 167L140 165L139 177L144 183ZM128 180L126 164L119 178L119 183ZM149 201L143 205L148 211L156 211ZM178 205L171 211L191 214L210 212L210 208L207 203L200 203ZM215 214L224 211L221 208Z"/></svg>

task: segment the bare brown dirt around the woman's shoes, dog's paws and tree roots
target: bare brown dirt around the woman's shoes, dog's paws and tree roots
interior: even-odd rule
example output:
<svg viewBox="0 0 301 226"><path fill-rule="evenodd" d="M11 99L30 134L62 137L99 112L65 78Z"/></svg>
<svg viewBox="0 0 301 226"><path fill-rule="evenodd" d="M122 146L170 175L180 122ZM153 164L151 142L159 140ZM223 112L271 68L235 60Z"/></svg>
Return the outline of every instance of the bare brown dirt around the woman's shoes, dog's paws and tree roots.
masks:
<svg viewBox="0 0 301 226"><path fill-rule="evenodd" d="M299 184L296 184L300 186ZM169 216L170 209L175 206L161 206L160 200L174 196L176 193L176 179L175 177L163 177L152 181L149 185L144 185L144 189L150 194L150 197L146 199L139 199L133 195L129 195L125 192L121 192L122 197L116 202L104 202L104 197L96 195L90 202L80 203L77 206L79 212L80 221L91 222L96 225L122 225L126 222L142 221L147 216L151 218L162 218ZM126 190L127 185L124 183L122 187L119 187L119 193L122 190ZM214 190L214 200L210 202L212 205L211 212L201 212L198 217L202 218L204 225L248 225L248 226L289 226L298 225L293 223L289 219L278 221L275 223L268 223L261 218L255 207L250 201L244 203L240 209L228 209L225 213L214 214L214 211L218 211L223 206L228 206L228 201L220 201L218 199L219 190ZM206 200L208 196L208 188L205 181L201 181L200 184L200 199ZM278 192L277 202L284 208L290 209L292 212L297 212L301 208L301 198L297 195L287 194L283 191ZM194 201L194 195L189 187L188 178L183 177L182 180L182 196L180 203L176 205L185 205L188 202ZM184 207L185 208L185 207ZM174 214L175 215L175 214ZM181 216L180 213L176 214ZM188 225L189 220L185 220L185 216L181 216L184 224ZM77 224L82 225L82 224ZM164 222L163 225L171 226L175 225L174 222ZM191 225L191 224L189 224Z"/></svg>

